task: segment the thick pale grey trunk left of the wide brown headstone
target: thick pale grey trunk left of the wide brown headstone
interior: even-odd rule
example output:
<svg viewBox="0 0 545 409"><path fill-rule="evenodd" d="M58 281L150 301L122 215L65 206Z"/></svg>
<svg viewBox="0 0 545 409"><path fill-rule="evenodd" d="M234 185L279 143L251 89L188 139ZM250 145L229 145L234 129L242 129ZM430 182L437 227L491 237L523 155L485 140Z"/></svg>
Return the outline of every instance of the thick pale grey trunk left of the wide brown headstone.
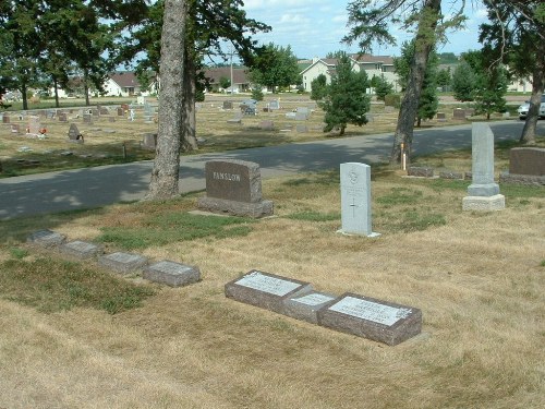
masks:
<svg viewBox="0 0 545 409"><path fill-rule="evenodd" d="M159 130L147 200L179 193L180 146L183 133L185 0L166 0L161 34Z"/></svg>

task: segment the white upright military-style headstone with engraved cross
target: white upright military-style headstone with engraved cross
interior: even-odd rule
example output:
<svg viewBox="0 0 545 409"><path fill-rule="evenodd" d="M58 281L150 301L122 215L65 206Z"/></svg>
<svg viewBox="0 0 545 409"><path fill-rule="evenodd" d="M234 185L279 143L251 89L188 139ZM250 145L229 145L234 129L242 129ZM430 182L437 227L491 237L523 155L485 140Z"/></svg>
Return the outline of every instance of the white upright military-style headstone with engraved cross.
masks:
<svg viewBox="0 0 545 409"><path fill-rule="evenodd" d="M377 237L372 230L371 166L358 163L340 165L341 220L339 232Z"/></svg>

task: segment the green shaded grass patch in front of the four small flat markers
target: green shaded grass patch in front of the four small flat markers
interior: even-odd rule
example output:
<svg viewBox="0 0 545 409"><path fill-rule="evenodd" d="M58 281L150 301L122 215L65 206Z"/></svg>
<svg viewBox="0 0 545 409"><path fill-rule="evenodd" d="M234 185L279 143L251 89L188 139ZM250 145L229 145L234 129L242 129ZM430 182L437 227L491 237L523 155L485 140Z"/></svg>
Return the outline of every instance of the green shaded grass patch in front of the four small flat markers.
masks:
<svg viewBox="0 0 545 409"><path fill-rule="evenodd" d="M149 286L58 257L17 257L0 264L0 297L41 312L84 306L116 314L142 305L152 294Z"/></svg>

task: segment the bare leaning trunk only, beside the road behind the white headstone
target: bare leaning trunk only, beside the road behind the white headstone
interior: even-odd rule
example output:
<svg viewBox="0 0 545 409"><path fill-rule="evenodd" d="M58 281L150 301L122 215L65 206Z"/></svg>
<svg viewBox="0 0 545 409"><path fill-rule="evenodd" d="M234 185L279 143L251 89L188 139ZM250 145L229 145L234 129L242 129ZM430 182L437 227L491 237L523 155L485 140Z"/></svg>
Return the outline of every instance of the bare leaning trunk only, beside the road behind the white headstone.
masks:
<svg viewBox="0 0 545 409"><path fill-rule="evenodd" d="M410 160L414 120L419 112L419 103L422 85L424 84L427 60L436 41L435 28L440 15L440 0L426 0L422 8L416 33L414 58L411 62L407 89L401 100L401 108L399 109L390 164L399 164L401 161L401 145L404 146L407 160Z"/></svg>

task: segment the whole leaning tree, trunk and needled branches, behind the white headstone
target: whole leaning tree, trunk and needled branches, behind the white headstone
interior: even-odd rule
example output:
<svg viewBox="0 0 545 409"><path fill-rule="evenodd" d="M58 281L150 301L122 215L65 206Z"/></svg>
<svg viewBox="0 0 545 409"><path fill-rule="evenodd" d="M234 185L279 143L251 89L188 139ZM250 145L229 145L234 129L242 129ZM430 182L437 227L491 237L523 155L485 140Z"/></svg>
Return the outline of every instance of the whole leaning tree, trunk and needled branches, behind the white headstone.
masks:
<svg viewBox="0 0 545 409"><path fill-rule="evenodd" d="M419 110L419 100L424 84L424 73L429 52L438 38L444 38L445 31L459 26L465 19L462 15L463 5L452 13L452 17L444 20L440 0L353 0L348 5L349 26L346 43L358 44L362 51L371 50L372 45L395 45L396 39L389 33L389 23L403 24L404 29L414 27L415 52L411 61L408 86L399 110L390 163L401 160L401 145L410 158L414 121Z"/></svg>

